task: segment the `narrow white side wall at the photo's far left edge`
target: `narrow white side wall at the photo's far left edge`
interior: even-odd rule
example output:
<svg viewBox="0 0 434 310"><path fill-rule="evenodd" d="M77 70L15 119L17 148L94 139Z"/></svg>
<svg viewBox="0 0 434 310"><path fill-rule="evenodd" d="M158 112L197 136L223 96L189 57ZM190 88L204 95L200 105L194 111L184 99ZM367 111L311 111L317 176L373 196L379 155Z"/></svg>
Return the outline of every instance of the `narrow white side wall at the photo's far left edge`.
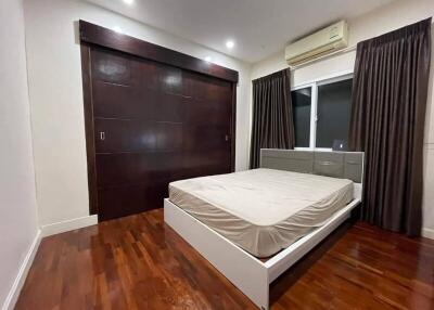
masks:
<svg viewBox="0 0 434 310"><path fill-rule="evenodd" d="M0 2L0 307L37 234L23 3Z"/></svg>

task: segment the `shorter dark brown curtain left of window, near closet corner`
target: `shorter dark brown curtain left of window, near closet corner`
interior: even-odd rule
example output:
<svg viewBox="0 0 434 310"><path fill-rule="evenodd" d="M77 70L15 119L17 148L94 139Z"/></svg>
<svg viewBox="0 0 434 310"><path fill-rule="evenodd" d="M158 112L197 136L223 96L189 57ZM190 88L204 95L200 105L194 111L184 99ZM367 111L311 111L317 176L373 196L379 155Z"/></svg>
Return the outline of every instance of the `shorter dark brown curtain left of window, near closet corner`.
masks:
<svg viewBox="0 0 434 310"><path fill-rule="evenodd" d="M290 69L253 81L251 169L259 167L260 148L294 148Z"/></svg>

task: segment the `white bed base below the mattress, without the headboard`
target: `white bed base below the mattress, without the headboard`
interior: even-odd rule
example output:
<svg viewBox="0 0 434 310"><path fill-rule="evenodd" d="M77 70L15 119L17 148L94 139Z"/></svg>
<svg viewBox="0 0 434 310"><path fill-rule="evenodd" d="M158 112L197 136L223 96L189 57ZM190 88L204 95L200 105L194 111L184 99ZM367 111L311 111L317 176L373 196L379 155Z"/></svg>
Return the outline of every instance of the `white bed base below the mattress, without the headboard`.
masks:
<svg viewBox="0 0 434 310"><path fill-rule="evenodd" d="M269 309L269 285L298 259L349 218L360 203L355 198L322 227L263 262L201 221L164 201L164 221L244 293L259 309ZM224 255L222 255L224 254Z"/></svg>

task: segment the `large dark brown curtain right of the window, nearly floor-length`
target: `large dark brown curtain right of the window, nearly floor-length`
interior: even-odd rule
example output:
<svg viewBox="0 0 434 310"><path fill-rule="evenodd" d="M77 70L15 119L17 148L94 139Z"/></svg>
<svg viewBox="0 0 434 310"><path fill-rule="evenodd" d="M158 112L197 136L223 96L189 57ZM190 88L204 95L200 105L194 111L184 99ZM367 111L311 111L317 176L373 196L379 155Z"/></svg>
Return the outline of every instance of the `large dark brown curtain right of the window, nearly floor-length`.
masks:
<svg viewBox="0 0 434 310"><path fill-rule="evenodd" d="M365 151L362 218L420 235L431 18L357 44L349 142Z"/></svg>

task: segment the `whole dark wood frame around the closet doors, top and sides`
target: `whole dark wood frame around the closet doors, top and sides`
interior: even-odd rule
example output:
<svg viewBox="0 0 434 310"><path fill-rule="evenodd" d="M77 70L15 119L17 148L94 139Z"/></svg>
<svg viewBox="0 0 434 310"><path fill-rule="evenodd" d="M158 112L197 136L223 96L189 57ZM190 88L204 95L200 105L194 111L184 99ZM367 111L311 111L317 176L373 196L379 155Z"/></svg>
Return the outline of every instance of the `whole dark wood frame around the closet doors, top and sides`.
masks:
<svg viewBox="0 0 434 310"><path fill-rule="evenodd" d="M91 59L92 48L105 48L119 51L144 60L151 60L177 68L207 75L225 81L229 81L232 88L230 139L231 160L230 170L235 169L235 129L237 129L237 85L239 74L232 70L188 54L183 54L161 46L156 46L114 30L79 21L79 39L81 53L81 76L84 92L84 112L86 130L86 151L88 162L88 188L89 188L89 212L98 215L98 189L97 189L97 165L95 165L95 141L93 128L93 102Z"/></svg>

